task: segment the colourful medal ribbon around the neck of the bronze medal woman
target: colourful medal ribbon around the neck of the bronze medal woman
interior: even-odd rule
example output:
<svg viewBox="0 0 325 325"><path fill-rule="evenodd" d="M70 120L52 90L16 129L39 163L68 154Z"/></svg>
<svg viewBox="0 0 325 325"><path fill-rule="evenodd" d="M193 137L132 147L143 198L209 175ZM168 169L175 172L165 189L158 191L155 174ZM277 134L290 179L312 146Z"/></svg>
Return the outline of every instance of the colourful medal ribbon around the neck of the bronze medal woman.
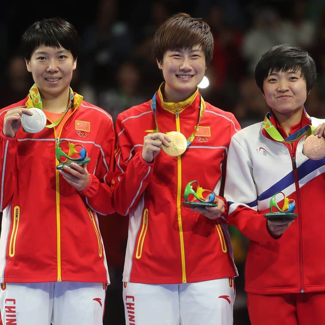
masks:
<svg viewBox="0 0 325 325"><path fill-rule="evenodd" d="M304 112L303 113L311 121L310 116L305 111L305 108L304 108ZM269 136L271 136L271 138L273 140L275 140L275 141L292 143L292 142L296 141L297 139L299 139L301 136L304 136L305 134L307 136L310 136L312 133L314 133L314 130L316 129L315 126L312 126L312 125L309 125L308 124L308 125L304 126L300 130L294 132L292 135L290 135L290 136L288 136L288 137L286 137L284 139L281 136L281 134L279 133L279 131L277 130L277 128L270 121L270 117L271 117L271 113L270 112L267 112L266 115L265 115L265 118L264 118L263 128L269 134Z"/></svg>

